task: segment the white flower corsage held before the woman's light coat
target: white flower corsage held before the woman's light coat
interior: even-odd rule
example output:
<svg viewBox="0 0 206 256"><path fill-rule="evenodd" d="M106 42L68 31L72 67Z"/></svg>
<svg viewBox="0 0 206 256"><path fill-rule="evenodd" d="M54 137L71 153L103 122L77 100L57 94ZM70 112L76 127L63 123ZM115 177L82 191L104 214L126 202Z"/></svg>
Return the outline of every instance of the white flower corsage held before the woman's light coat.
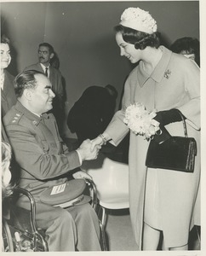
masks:
<svg viewBox="0 0 206 256"><path fill-rule="evenodd" d="M137 102L126 108L123 122L134 134L144 136L148 140L160 130L159 122L153 119L156 115L155 110L149 112L143 104Z"/></svg>

